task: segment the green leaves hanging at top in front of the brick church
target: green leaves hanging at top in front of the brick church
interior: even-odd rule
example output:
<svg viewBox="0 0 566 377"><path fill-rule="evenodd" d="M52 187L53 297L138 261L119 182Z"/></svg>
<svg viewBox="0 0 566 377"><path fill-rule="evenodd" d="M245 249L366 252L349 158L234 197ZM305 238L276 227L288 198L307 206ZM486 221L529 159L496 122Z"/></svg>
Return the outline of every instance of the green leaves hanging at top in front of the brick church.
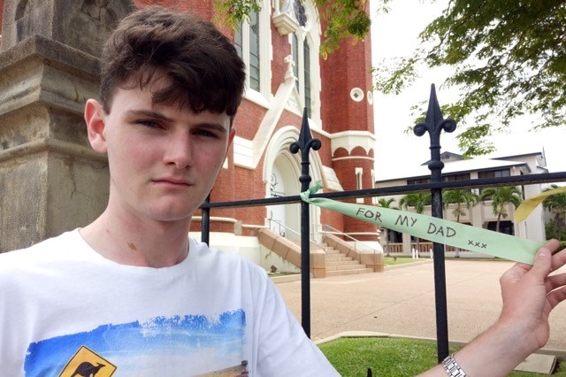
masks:
<svg viewBox="0 0 566 377"><path fill-rule="evenodd" d="M282 3L284 0L280 1ZM321 19L327 23L327 27L323 32L324 40L320 44L320 51L324 57L338 50L340 41L348 36L354 37L355 40L363 40L365 35L368 35L370 32L371 19L366 9L369 1L308 1L313 2L317 6ZM390 0L386 0L385 3L388 1ZM250 12L258 12L261 9L261 3L261 0L218 0L214 3L214 7L218 12L216 20L230 27L236 27L242 20L249 17Z"/></svg>

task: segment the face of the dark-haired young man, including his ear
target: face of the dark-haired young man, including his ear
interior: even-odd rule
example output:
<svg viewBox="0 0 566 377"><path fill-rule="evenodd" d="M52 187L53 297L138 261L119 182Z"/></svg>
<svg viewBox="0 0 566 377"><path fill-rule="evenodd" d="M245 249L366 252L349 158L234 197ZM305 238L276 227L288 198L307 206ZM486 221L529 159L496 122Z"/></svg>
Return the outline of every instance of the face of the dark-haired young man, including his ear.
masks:
<svg viewBox="0 0 566 377"><path fill-rule="evenodd" d="M210 192L234 131L226 113L152 104L150 90L160 85L119 88L109 114L91 103L102 112L102 125L91 136L96 125L88 122L90 141L108 153L109 209L159 221L190 219Z"/></svg>

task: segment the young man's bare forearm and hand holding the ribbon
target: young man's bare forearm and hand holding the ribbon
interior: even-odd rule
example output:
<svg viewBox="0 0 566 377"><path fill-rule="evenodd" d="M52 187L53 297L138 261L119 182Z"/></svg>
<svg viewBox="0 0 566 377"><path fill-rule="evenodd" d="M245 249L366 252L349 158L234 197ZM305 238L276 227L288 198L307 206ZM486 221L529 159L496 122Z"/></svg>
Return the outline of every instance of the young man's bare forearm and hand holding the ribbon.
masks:
<svg viewBox="0 0 566 377"><path fill-rule="evenodd" d="M566 273L550 275L566 264L566 249L552 255L558 246L556 240L551 240L537 252L534 265L517 263L503 273L500 318L455 354L466 374L506 376L532 352L547 344L548 315L566 299ZM421 376L445 377L447 373L437 365Z"/></svg>

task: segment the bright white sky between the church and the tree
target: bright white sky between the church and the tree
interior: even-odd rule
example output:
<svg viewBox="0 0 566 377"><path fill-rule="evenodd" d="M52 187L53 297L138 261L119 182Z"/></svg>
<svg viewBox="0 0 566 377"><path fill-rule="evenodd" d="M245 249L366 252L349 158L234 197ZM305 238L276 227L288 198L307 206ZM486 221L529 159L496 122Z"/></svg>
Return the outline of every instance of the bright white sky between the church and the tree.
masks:
<svg viewBox="0 0 566 377"><path fill-rule="evenodd" d="M378 65L384 58L410 56L418 47L418 34L445 8L447 0L438 0L431 4L422 0L394 0L391 11L376 15L372 10L372 54L373 65ZM414 126L410 107L421 101L428 102L431 84L436 87L440 105L447 104L455 94L440 85L446 77L446 70L427 70L421 72L421 78L415 81L400 95L384 96L374 93L376 180L402 177L415 165L421 165L430 159L430 139L428 133L418 137L406 134L409 126ZM445 114L445 118L446 118ZM566 128L552 127L537 132L530 131L528 121L517 121L512 125L512 132L494 135L493 141L498 154L512 156L520 151L542 150L547 157L547 169L550 173L566 171ZM440 136L440 152L461 153L455 135L443 133Z"/></svg>

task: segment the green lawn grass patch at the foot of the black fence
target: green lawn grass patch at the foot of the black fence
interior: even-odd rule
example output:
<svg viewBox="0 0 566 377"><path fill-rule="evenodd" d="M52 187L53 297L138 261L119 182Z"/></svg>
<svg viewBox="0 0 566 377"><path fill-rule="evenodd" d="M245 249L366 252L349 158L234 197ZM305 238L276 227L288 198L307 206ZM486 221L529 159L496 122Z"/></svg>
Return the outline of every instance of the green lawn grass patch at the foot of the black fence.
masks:
<svg viewBox="0 0 566 377"><path fill-rule="evenodd" d="M373 376L408 377L437 364L436 342L406 338L340 338L318 345L326 358L343 377L365 377L368 368ZM451 348L450 352L458 350ZM512 377L544 374L512 372ZM552 376L566 377L566 363L558 363Z"/></svg>

